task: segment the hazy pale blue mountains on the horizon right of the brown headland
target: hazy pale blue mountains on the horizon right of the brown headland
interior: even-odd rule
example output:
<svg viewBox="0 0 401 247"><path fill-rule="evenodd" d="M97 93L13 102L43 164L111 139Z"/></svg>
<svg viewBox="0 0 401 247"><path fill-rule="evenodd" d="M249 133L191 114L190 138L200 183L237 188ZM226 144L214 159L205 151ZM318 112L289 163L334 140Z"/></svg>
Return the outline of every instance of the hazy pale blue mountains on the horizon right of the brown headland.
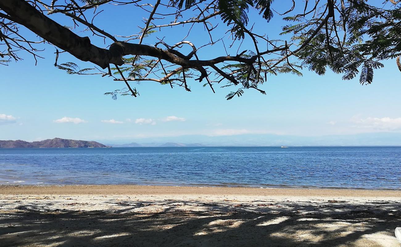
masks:
<svg viewBox="0 0 401 247"><path fill-rule="evenodd" d="M257 147L257 146L401 146L401 133L295 136L243 134L228 136L182 135L122 140L97 140L112 147ZM134 141L133 143L131 143ZM113 144L111 144L113 143ZM120 143L130 143L120 145ZM199 144L202 143L202 144Z"/></svg>

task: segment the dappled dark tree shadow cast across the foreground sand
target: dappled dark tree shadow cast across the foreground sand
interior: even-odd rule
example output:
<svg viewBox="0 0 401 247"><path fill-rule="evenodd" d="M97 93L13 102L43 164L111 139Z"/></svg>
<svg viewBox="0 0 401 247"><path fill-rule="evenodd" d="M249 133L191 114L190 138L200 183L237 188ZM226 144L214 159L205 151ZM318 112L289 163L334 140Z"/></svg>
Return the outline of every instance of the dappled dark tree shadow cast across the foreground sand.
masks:
<svg viewBox="0 0 401 247"><path fill-rule="evenodd" d="M112 212L19 206L0 211L0 246L399 246L393 231L401 211L393 202L352 210L341 202L285 209L203 203L202 211L183 210L194 201L174 202L159 212L133 212L152 203L135 201Z"/></svg>

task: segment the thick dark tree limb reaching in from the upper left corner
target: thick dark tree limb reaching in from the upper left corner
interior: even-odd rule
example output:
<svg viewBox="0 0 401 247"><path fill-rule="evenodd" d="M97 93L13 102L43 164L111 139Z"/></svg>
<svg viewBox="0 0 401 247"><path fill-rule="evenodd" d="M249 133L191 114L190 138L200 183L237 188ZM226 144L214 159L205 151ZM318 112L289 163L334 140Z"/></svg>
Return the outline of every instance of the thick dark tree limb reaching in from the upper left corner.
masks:
<svg viewBox="0 0 401 247"><path fill-rule="evenodd" d="M2 0L0 8L11 18L41 36L60 49L69 52L82 61L90 61L105 69L108 65L122 65L124 55L147 55L164 59L185 67L210 66L223 61L252 63L253 59L239 56L222 56L211 60L186 60L170 51L142 44L115 42L110 48L103 49L91 44L88 37L79 37L69 29L45 16L24 0Z"/></svg>

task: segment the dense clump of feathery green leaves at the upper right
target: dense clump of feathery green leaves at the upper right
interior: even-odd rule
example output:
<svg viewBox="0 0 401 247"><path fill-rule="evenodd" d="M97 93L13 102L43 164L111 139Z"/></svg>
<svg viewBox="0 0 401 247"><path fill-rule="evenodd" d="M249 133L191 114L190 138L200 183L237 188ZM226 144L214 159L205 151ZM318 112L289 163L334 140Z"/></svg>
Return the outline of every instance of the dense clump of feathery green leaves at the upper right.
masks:
<svg viewBox="0 0 401 247"><path fill-rule="evenodd" d="M320 23L318 18L302 16L284 20L298 22L283 27L281 34L292 34L292 40L300 44ZM342 73L344 80L351 80L360 73L360 84L371 84L374 69L383 67L380 61L401 54L400 20L400 8L384 10L363 0L348 1L340 18L330 18L327 31L323 27L297 55L302 66L319 75L324 75L328 68Z"/></svg>

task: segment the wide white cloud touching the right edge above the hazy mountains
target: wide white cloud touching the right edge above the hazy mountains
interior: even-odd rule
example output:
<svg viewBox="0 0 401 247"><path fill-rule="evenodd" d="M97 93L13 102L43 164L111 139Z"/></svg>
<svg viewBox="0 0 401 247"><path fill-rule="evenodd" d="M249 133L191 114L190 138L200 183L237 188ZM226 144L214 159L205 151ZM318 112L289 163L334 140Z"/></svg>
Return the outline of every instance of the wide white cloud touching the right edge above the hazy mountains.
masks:
<svg viewBox="0 0 401 247"><path fill-rule="evenodd" d="M379 131L393 131L401 129L401 117L399 118L358 118L356 116L351 118L351 122L356 125L354 127L374 129Z"/></svg>

